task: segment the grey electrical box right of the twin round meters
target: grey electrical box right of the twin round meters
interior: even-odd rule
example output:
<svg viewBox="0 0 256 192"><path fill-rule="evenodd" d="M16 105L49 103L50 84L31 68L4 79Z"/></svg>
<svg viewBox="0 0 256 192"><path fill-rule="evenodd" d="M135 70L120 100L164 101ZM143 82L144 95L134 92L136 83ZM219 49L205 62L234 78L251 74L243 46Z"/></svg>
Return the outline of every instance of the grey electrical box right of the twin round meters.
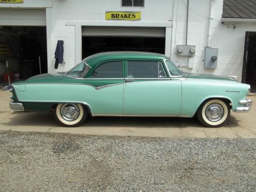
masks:
<svg viewBox="0 0 256 192"><path fill-rule="evenodd" d="M218 49L217 48L205 48L205 69L216 69L218 62Z"/></svg>

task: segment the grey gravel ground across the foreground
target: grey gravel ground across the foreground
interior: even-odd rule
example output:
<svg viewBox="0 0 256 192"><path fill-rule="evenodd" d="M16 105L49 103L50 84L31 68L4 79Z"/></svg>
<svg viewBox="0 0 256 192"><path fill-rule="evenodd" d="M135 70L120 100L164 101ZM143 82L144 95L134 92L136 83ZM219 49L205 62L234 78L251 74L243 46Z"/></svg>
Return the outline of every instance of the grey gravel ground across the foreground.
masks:
<svg viewBox="0 0 256 192"><path fill-rule="evenodd" d="M0 132L0 191L256 191L255 141Z"/></svg>

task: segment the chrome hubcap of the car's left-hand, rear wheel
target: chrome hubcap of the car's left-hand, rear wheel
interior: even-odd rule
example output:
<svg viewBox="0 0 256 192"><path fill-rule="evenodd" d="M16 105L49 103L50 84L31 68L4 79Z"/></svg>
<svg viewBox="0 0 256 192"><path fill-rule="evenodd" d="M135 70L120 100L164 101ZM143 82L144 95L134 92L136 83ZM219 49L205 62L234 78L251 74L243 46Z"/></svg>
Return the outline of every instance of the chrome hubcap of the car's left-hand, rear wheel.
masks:
<svg viewBox="0 0 256 192"><path fill-rule="evenodd" d="M63 104L60 108L60 115L67 121L74 121L80 114L80 110L76 104L67 103Z"/></svg>

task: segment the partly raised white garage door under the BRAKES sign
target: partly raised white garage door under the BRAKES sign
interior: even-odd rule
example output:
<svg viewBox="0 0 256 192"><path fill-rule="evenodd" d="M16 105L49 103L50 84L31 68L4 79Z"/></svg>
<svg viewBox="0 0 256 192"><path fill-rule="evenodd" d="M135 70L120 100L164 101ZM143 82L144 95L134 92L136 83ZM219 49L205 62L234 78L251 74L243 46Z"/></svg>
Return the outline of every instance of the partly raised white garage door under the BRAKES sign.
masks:
<svg viewBox="0 0 256 192"><path fill-rule="evenodd" d="M82 36L165 37L163 27L82 27Z"/></svg>

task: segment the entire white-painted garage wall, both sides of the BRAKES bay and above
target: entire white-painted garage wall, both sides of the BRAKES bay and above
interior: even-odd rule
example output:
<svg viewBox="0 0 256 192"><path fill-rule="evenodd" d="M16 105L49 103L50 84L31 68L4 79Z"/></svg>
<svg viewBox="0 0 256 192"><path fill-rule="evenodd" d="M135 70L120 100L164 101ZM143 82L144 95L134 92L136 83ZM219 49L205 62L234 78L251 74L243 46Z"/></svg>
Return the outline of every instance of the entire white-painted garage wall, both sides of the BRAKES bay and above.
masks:
<svg viewBox="0 0 256 192"><path fill-rule="evenodd" d="M168 35L166 41L169 41L166 44L166 54L170 55L181 66L182 70L215 75L236 75L241 81L245 32L256 31L255 23L222 24L223 0L189 0L187 43L188 45L196 45L196 55L192 58L181 57L176 55L176 46L185 44L187 0L144 1L144 7L121 7L121 0L26 0L24 4L1 4L0 7L46 9L49 72L67 71L76 64L76 60L79 58L80 53L78 52L81 51L81 43L78 42L81 41L81 34L78 37L77 29L81 29L81 26L67 25L67 22L102 23L102 26L112 22L115 26L117 21L105 20L105 11L141 11L141 21L120 21L121 24L133 26L140 23L158 24L165 22L169 23L170 26L172 25L172 28L166 28ZM213 3L209 47L219 49L218 67L214 70L204 69L203 61L207 46L211 1ZM66 64L55 70L54 51L57 40L64 40Z"/></svg>

